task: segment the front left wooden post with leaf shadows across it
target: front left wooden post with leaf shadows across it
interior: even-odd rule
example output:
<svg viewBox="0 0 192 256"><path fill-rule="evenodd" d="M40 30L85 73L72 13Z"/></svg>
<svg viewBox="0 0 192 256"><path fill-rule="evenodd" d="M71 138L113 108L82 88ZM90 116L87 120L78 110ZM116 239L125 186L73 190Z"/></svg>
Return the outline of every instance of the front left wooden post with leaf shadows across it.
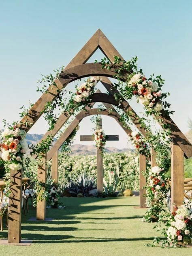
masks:
<svg viewBox="0 0 192 256"><path fill-rule="evenodd" d="M21 242L21 201L23 170L11 170L8 208L8 243Z"/></svg>

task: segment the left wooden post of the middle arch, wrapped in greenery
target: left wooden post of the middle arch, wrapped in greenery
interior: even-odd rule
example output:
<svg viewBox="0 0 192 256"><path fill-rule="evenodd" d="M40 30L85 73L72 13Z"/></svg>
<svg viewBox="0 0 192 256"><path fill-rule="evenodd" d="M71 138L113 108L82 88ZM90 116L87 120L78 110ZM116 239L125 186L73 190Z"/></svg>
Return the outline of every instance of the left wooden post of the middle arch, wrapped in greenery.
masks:
<svg viewBox="0 0 192 256"><path fill-rule="evenodd" d="M46 155L43 155L43 158L41 159L41 164L38 166L38 180L42 182L42 184L45 186L46 184ZM45 191L45 188L43 188L40 193L38 194L37 198L37 212L36 212L36 219L38 220L45 220L45 212L46 212L46 200L39 200L39 197L41 197L42 193Z"/></svg>

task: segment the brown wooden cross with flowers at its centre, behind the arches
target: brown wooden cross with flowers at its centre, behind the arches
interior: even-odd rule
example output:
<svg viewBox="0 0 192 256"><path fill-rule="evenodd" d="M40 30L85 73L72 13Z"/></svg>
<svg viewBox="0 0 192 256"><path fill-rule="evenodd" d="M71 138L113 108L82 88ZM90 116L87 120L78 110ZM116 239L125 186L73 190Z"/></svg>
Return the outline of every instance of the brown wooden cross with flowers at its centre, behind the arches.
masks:
<svg viewBox="0 0 192 256"><path fill-rule="evenodd" d="M102 119L97 122L97 129L102 129ZM107 141L118 141L119 135L106 135ZM80 141L94 141L93 135L80 135ZM97 191L103 193L102 149L97 150Z"/></svg>

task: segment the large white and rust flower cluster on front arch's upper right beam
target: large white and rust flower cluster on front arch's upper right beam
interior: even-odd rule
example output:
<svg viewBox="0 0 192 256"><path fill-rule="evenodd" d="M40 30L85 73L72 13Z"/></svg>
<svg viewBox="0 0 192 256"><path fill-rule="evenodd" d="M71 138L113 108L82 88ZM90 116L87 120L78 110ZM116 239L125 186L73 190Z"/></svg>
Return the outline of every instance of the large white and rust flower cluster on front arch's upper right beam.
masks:
<svg viewBox="0 0 192 256"><path fill-rule="evenodd" d="M137 95L137 102L146 108L154 109L156 112L163 109L162 93L156 82L147 80L143 74L137 73L128 81L128 87L130 87L130 93Z"/></svg>

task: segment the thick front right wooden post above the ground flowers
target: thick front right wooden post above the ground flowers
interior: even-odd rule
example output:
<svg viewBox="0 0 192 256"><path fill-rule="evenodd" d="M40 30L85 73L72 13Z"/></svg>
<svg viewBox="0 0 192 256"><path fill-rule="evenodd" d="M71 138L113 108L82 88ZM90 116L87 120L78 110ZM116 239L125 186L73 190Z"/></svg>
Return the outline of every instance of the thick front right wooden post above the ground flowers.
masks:
<svg viewBox="0 0 192 256"><path fill-rule="evenodd" d="M184 200L184 153L174 142L171 145L171 210Z"/></svg>

